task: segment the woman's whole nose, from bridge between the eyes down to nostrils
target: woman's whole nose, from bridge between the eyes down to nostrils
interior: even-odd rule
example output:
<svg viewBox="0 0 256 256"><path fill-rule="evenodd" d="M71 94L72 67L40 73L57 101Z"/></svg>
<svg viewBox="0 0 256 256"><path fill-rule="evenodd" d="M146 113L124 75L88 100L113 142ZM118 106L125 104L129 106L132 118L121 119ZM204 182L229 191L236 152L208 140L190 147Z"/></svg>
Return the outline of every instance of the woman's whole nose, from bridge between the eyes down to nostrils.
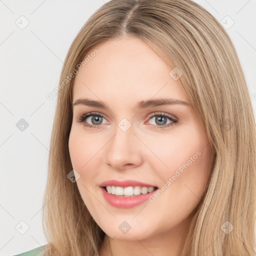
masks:
<svg viewBox="0 0 256 256"><path fill-rule="evenodd" d="M139 165L142 156L139 152L139 139L134 135L134 126L123 118L114 129L114 136L107 143L105 162L114 168L129 163Z"/></svg>

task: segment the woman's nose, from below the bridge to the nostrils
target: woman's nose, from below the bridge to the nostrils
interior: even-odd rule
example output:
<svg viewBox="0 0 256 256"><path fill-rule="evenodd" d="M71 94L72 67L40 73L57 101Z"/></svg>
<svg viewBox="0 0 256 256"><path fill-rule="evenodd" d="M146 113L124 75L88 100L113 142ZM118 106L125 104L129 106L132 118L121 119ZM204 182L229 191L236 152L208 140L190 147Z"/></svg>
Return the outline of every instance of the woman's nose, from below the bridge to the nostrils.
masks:
<svg viewBox="0 0 256 256"><path fill-rule="evenodd" d="M132 125L126 131L117 125L114 135L105 146L106 164L121 170L134 168L142 163L143 143L134 133Z"/></svg>

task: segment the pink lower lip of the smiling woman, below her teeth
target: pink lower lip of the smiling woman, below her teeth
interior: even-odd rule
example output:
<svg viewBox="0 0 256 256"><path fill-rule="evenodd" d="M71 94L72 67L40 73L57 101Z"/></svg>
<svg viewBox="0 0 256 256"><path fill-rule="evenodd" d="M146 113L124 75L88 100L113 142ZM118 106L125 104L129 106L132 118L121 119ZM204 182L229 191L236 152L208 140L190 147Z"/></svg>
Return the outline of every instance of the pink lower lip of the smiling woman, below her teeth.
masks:
<svg viewBox="0 0 256 256"><path fill-rule="evenodd" d="M132 196L126 196L126 197L109 194L104 187L100 187L100 190L105 200L112 206L117 208L132 208L148 200L148 198L151 195L153 195L157 189L153 190L150 193L132 195Z"/></svg>

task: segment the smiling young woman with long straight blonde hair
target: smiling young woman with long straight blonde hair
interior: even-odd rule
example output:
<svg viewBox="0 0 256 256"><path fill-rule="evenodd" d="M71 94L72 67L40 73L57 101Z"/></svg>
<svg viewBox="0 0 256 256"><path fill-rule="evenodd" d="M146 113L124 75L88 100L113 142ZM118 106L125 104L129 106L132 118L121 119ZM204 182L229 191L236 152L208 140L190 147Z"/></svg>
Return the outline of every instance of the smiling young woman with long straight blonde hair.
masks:
<svg viewBox="0 0 256 256"><path fill-rule="evenodd" d="M58 87L34 255L256 255L255 121L234 46L190 0L111 0Z"/></svg>

